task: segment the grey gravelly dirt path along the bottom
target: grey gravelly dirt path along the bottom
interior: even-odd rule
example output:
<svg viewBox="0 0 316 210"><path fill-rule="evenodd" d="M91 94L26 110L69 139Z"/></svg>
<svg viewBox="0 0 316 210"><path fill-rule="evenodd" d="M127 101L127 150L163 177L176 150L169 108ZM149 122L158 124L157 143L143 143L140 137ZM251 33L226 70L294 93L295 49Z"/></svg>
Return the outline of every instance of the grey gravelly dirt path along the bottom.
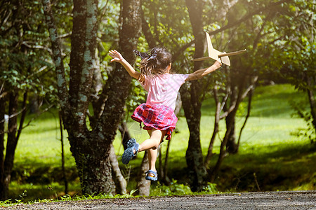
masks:
<svg viewBox="0 0 316 210"><path fill-rule="evenodd" d="M6 209L315 209L316 191L84 200Z"/></svg>

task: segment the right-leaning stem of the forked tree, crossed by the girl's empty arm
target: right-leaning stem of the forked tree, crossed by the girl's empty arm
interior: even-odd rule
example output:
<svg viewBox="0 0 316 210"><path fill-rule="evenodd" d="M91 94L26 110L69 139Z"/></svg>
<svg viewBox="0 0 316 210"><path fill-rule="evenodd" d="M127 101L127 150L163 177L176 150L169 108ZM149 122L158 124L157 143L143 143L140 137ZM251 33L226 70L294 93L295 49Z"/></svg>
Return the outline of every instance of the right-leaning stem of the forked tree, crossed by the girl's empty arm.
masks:
<svg viewBox="0 0 316 210"><path fill-rule="evenodd" d="M140 0L122 1L121 20L123 22L119 31L119 51L129 63L133 64L136 60L133 50L136 49L140 36ZM97 127L105 134L105 144L110 145L124 114L131 76L123 66L117 64L106 85L110 88L107 90L105 109Z"/></svg>

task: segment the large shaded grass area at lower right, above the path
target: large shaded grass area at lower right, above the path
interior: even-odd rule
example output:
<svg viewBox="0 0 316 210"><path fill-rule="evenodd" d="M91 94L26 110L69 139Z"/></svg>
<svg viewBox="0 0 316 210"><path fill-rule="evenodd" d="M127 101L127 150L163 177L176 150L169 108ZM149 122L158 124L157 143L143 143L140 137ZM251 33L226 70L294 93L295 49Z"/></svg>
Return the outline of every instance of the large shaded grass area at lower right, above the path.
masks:
<svg viewBox="0 0 316 210"><path fill-rule="evenodd" d="M239 192L315 190L315 162L316 144L275 145L271 151L229 155L216 183L220 190Z"/></svg>

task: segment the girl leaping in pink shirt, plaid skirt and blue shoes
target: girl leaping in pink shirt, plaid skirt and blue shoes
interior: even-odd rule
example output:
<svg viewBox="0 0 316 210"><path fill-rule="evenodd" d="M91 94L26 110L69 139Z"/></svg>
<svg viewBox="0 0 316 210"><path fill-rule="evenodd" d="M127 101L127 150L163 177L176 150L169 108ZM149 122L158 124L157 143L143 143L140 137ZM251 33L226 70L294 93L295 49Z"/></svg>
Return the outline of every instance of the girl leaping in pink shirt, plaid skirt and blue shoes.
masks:
<svg viewBox="0 0 316 210"><path fill-rule="evenodd" d="M155 163L157 160L157 148L162 143L164 136L170 140L171 132L176 128L178 118L174 114L176 97L180 86L188 80L202 78L221 66L220 59L206 69L199 69L190 74L172 74L171 54L165 48L153 48L148 55L145 52L134 50L136 55L142 58L140 72L135 71L129 62L126 62L117 50L110 50L111 62L119 62L124 66L129 75L140 81L147 90L147 102L136 108L131 118L143 123L143 129L147 130L150 139L138 144L135 139L130 139L127 148L122 155L122 162L128 164L137 153L148 151L150 169L146 172L145 179L157 181Z"/></svg>

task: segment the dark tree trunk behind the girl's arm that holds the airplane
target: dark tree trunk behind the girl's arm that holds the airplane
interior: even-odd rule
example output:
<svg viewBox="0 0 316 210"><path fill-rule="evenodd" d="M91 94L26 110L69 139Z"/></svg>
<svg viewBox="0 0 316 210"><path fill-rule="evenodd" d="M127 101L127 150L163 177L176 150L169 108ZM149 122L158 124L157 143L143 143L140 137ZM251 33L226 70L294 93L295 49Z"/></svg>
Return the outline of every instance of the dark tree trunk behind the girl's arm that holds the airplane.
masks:
<svg viewBox="0 0 316 210"><path fill-rule="evenodd" d="M187 10L190 16L193 35L195 36L195 55L194 57L203 57L205 48L204 25L210 24L211 21L225 22L226 15L230 8L238 1L220 2L221 7L214 9L216 18L210 19L204 17L204 9L208 8L209 3L213 6L213 1L206 3L205 1L186 0ZM216 7L217 8L217 7ZM206 19L206 20L205 20ZM220 31L217 31L217 33ZM213 33L215 34L215 33ZM202 68L202 62L195 62L193 71ZM190 130L189 146L187 148L186 160L190 169L192 190L202 190L206 179L206 168L204 167L202 148L199 137L199 125L201 120L201 106L206 90L209 88L209 82L204 80L196 80L192 83L183 85L180 89L181 98L183 99L183 109L187 118L187 125ZM187 94L187 92L189 94Z"/></svg>

